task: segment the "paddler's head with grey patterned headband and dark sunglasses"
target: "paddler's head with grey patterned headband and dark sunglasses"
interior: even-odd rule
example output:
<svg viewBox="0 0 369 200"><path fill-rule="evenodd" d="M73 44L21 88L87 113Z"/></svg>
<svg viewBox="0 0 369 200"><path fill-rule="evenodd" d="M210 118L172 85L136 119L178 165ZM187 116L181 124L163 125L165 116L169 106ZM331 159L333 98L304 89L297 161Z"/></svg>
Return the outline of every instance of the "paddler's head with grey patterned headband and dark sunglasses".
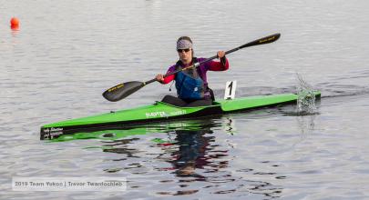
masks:
<svg viewBox="0 0 369 200"><path fill-rule="evenodd" d="M193 57L192 40L189 36L181 36L177 40L177 52L179 59L184 64L190 64Z"/></svg>

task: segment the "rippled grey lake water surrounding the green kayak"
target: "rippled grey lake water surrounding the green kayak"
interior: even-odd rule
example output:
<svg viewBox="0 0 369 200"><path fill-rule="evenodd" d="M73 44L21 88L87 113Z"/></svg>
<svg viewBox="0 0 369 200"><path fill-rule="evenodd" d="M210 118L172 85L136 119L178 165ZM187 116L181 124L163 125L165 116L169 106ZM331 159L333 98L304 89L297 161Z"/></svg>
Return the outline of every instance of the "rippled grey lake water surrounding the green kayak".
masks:
<svg viewBox="0 0 369 200"><path fill-rule="evenodd" d="M0 198L369 198L368 9L364 0L0 0ZM322 91L317 114L289 105L130 136L39 140L46 123L170 93L154 83L118 103L101 96L165 72L181 35L207 57L274 33L276 43L229 55L231 69L210 72L211 87L220 98L228 80L238 96L295 92L298 73ZM127 177L128 189L15 192L13 176Z"/></svg>

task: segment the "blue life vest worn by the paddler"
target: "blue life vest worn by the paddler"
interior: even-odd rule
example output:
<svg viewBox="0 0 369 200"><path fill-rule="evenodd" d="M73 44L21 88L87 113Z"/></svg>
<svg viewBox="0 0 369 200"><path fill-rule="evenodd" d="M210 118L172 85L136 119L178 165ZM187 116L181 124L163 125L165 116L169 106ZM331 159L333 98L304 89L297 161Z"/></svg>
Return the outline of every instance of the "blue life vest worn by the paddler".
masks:
<svg viewBox="0 0 369 200"><path fill-rule="evenodd" d="M177 63L177 70L182 68L179 62ZM196 58L194 58L194 62L197 62ZM177 95L180 99L199 100L204 98L204 81L196 68L179 72L175 80Z"/></svg>

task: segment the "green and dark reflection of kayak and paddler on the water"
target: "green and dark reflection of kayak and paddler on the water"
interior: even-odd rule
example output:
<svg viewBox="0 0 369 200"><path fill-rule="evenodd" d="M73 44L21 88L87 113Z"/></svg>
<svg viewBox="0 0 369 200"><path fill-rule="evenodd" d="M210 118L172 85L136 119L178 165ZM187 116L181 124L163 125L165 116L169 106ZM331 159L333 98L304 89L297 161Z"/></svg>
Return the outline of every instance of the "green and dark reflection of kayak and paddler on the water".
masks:
<svg viewBox="0 0 369 200"><path fill-rule="evenodd" d="M204 168L204 166L210 165L211 159L227 156L227 150L217 151L216 154L212 155L207 154L206 151L212 148L210 147L210 143L215 141L211 128L224 126L233 129L230 127L230 122L231 118L223 118L218 121L213 119L201 119L165 124L130 126L121 129L116 128L96 132L81 132L73 135L60 135L49 142L98 139L103 141L104 145L88 146L87 148L101 148L104 152L135 157L138 150L131 147L122 147L122 145L135 143L135 141L138 140L137 137L132 136L158 133L172 135L173 139L154 138L151 142L153 142L154 145L161 146L165 152L164 154L172 157L168 162L173 165L172 170L175 169L177 175L195 175L195 169ZM164 137L168 137L167 135ZM173 151L171 146L174 146L176 150ZM220 165L224 165L221 167L225 167L227 162ZM213 171L213 169L211 170Z"/></svg>

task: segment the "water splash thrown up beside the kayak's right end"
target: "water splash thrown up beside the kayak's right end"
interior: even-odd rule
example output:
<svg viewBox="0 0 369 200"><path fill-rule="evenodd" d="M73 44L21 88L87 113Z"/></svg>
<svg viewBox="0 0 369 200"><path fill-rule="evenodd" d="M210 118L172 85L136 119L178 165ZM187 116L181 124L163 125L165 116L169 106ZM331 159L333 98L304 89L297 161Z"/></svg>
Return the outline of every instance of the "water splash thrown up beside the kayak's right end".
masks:
<svg viewBox="0 0 369 200"><path fill-rule="evenodd" d="M315 90L312 85L306 83L302 76L296 74L299 85L297 86L297 113L311 115L315 114L317 109L315 105Z"/></svg>

